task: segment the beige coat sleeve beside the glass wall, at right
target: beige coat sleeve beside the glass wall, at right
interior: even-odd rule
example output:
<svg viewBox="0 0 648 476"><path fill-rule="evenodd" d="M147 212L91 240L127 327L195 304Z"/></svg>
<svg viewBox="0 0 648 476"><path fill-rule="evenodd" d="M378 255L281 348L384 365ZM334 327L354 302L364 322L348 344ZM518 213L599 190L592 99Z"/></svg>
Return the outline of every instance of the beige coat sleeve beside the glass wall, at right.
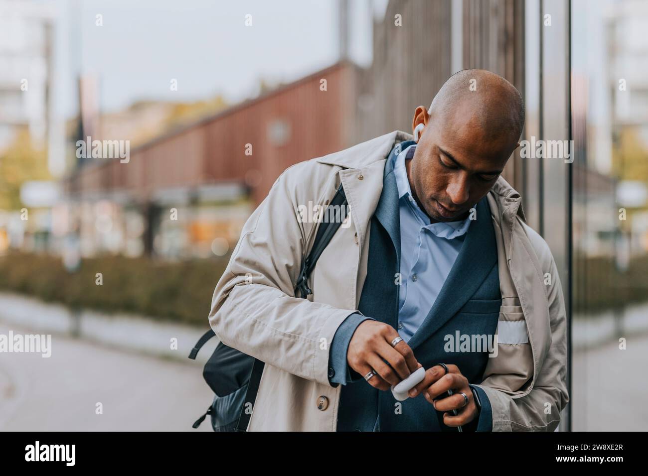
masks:
<svg viewBox="0 0 648 476"><path fill-rule="evenodd" d="M533 232L533 231L532 231ZM535 233L535 232L533 232ZM537 236L540 240L542 238ZM474 385L483 390L492 410L492 431L553 431L561 420L561 411L569 402L566 385L567 319L558 275L549 247L542 240L535 247L542 269L555 277L548 286L550 349L546 354L530 392L509 394L489 385ZM482 402L483 405L483 402Z"/></svg>

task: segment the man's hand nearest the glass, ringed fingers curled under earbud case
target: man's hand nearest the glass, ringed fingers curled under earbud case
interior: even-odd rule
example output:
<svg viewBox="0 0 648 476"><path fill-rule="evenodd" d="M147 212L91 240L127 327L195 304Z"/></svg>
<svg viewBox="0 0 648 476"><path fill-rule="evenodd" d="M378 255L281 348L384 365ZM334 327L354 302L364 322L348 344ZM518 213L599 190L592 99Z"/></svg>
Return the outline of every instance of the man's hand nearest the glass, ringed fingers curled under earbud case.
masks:
<svg viewBox="0 0 648 476"><path fill-rule="evenodd" d="M456 365L447 365L448 374L441 365L434 365L425 372L425 378L410 390L410 397L422 393L425 400L432 403L437 411L444 411L443 424L446 426L462 426L474 420L478 415L477 405L472 396L468 379L465 378ZM453 395L448 396L446 392L452 390ZM465 400L459 392L464 392L468 397L468 403L464 405ZM441 396L439 400L434 400ZM452 414L452 410L457 410L457 416Z"/></svg>

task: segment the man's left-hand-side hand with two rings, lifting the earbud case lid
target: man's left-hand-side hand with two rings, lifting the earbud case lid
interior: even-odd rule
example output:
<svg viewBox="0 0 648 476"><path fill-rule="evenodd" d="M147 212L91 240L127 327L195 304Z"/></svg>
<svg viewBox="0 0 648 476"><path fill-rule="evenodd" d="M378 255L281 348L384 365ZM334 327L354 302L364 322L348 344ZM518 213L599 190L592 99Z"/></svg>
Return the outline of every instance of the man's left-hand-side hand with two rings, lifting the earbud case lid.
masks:
<svg viewBox="0 0 648 476"><path fill-rule="evenodd" d="M378 372L378 375L367 381L376 389L389 390L391 385L408 378L411 372L421 367L405 341L400 341L395 347L391 346L395 337L399 337L399 333L392 326L367 320L356 328L349 342L349 367L362 376L372 369Z"/></svg>

